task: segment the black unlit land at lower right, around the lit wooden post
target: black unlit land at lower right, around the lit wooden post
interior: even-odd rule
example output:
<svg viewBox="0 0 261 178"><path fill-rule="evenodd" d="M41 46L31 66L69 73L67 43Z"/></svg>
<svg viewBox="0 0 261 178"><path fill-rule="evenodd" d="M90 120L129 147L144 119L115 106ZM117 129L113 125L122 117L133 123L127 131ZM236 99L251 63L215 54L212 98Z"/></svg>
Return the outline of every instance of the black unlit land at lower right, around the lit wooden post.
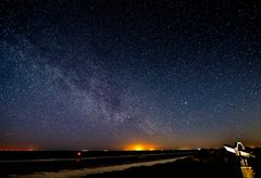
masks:
<svg viewBox="0 0 261 178"><path fill-rule="evenodd" d="M249 160L254 168L256 178L261 178L260 150L254 151L256 158ZM243 178L239 161L224 149L201 150L195 155L174 163L150 167L134 167L123 171L112 171L87 177L191 177L191 178Z"/></svg>

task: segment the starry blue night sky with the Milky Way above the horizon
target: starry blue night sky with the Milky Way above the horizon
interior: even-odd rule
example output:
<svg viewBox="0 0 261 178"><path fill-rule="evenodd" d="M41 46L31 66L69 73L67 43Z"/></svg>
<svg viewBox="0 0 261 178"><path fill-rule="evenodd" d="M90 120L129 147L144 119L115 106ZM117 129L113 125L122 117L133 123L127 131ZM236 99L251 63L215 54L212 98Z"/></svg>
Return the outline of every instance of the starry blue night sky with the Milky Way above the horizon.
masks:
<svg viewBox="0 0 261 178"><path fill-rule="evenodd" d="M261 3L0 2L0 147L261 145Z"/></svg>

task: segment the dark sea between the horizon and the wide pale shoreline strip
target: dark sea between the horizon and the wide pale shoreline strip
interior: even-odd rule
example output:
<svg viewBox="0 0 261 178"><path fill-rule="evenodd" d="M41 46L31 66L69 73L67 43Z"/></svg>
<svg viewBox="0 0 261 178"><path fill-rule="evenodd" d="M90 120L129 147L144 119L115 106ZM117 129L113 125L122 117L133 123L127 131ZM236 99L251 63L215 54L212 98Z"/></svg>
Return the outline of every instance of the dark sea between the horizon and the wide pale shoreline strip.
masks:
<svg viewBox="0 0 261 178"><path fill-rule="evenodd" d="M48 173L63 170L89 170L97 167L102 168L190 156L195 154L195 152L196 151L0 152L0 177L46 175ZM80 155L78 155L78 153L80 153Z"/></svg>

